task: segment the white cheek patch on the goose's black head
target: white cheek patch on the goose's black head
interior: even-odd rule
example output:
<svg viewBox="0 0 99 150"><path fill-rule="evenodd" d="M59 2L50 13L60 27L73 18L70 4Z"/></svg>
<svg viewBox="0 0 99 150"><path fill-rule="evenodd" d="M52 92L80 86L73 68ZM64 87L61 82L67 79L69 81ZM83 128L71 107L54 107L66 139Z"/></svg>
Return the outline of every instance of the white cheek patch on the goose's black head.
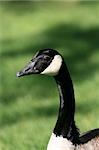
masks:
<svg viewBox="0 0 99 150"><path fill-rule="evenodd" d="M41 74L47 74L52 76L57 75L61 65L62 57L60 55L55 55L50 65L43 72L41 72Z"/></svg>

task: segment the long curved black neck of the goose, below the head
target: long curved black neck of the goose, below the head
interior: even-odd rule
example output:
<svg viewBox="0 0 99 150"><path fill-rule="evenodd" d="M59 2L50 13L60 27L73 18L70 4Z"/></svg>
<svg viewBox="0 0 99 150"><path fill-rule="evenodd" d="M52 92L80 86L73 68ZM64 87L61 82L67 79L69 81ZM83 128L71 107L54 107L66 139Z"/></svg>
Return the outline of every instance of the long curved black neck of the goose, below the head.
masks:
<svg viewBox="0 0 99 150"><path fill-rule="evenodd" d="M59 90L60 107L54 133L73 141L73 134L77 131L74 122L75 98L72 80L65 63L62 64L55 80Z"/></svg>

